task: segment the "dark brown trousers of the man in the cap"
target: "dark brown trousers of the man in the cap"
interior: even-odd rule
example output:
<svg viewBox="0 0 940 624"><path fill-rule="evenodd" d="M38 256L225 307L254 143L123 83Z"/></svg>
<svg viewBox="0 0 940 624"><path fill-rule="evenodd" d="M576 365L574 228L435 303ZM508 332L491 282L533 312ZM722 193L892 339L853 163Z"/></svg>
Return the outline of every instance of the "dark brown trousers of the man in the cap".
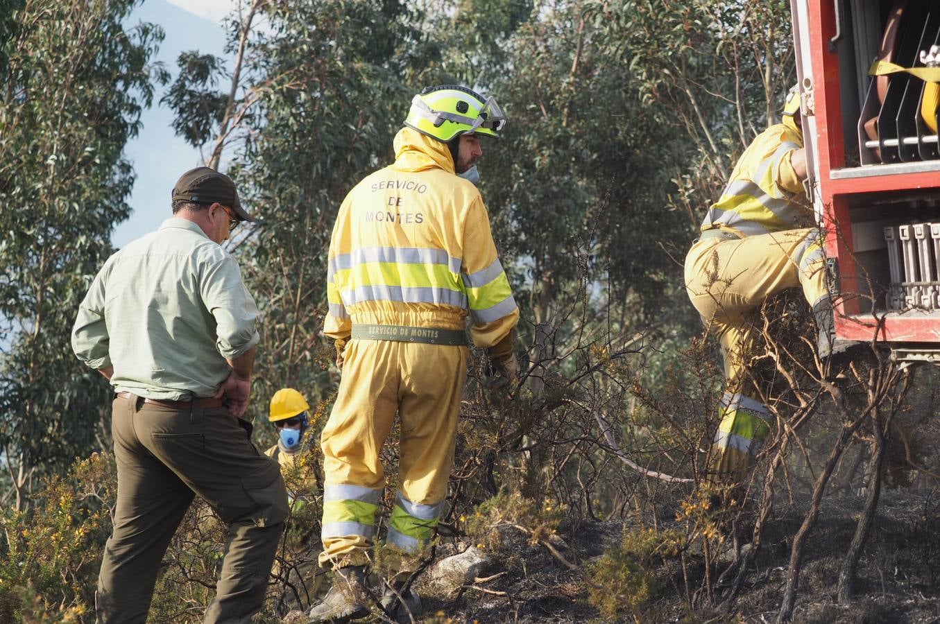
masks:
<svg viewBox="0 0 940 624"><path fill-rule="evenodd" d="M277 462L258 453L226 408L175 410L115 398L114 532L104 547L96 612L143 624L161 559L194 494L228 525L225 559L204 622L249 622L268 586L288 516Z"/></svg>

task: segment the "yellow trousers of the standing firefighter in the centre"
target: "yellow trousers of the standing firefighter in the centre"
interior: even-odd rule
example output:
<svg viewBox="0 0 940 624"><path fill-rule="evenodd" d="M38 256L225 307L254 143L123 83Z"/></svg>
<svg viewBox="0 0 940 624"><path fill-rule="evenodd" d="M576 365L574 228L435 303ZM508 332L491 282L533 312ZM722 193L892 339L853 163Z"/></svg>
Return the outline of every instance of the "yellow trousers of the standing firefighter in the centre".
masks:
<svg viewBox="0 0 940 624"><path fill-rule="evenodd" d="M412 551L415 542L405 538L431 537L454 459L467 355L466 347L390 340L346 346L337 402L321 436L321 565L368 563L384 488L379 453L396 413L399 496L388 539Z"/></svg>

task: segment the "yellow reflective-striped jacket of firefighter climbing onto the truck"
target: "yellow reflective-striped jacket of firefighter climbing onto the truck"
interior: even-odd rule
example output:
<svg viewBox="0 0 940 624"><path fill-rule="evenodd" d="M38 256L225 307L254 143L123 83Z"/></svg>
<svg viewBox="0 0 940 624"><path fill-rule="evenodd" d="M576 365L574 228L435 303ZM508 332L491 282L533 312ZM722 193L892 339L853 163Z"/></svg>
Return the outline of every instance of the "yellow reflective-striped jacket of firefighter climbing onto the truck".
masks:
<svg viewBox="0 0 940 624"><path fill-rule="evenodd" d="M802 147L803 137L784 123L758 134L705 215L702 231L723 226L755 236L812 226L803 182L791 164L793 151Z"/></svg>

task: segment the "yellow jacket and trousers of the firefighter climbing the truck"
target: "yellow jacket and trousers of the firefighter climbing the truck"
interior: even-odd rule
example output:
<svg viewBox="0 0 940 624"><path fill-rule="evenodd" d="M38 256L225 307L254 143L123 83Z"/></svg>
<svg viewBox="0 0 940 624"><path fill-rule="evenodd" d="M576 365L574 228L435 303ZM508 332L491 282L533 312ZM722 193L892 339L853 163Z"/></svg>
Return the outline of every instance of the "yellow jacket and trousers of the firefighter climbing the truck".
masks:
<svg viewBox="0 0 940 624"><path fill-rule="evenodd" d="M792 120L771 126L744 150L685 257L685 284L721 344L726 392L715 434L714 477L740 482L769 429L759 398L745 394L751 313L769 296L802 287L810 305L829 296L823 238L791 164L803 136ZM753 388L752 388L753 389Z"/></svg>

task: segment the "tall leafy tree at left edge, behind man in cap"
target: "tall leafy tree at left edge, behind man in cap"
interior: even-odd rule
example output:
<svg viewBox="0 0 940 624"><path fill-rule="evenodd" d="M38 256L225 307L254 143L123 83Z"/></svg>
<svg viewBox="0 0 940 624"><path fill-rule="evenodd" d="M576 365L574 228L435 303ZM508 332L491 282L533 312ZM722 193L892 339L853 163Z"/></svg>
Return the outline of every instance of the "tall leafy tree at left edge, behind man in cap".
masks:
<svg viewBox="0 0 940 624"><path fill-rule="evenodd" d="M34 470L100 445L106 383L71 353L75 310L127 217L123 158L162 71L163 33L127 27L134 0L39 0L0 73L0 453L17 500Z"/></svg>

